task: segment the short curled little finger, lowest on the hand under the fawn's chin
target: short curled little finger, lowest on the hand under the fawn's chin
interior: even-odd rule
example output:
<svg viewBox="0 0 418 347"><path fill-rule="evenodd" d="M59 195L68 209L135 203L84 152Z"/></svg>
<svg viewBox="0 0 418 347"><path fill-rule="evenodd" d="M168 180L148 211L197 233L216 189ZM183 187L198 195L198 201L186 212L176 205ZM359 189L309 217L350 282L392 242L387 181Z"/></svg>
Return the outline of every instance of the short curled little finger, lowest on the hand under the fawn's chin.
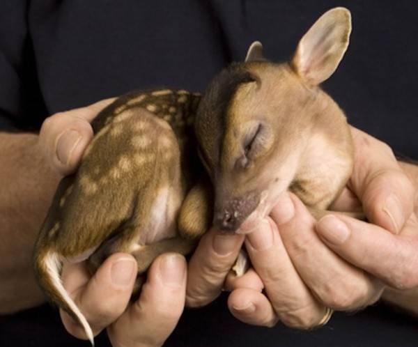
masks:
<svg viewBox="0 0 418 347"><path fill-rule="evenodd" d="M251 288L235 289L229 295L228 307L235 318L247 324L272 327L278 321L268 298Z"/></svg>

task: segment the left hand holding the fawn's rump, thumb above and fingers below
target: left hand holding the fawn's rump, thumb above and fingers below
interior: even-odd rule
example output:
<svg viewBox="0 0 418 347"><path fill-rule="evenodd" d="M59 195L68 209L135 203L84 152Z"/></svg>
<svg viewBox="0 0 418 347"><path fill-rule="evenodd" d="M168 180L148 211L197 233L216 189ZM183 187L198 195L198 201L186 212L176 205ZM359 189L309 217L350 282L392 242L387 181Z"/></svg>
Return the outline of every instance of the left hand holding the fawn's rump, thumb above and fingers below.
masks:
<svg viewBox="0 0 418 347"><path fill-rule="evenodd" d="M77 169L93 138L91 121L114 99L54 114L40 130L38 146L61 175ZM176 326L185 305L187 265L183 256L163 254L148 270L141 295L130 303L137 263L130 254L113 254L91 277L84 263L65 264L63 284L91 324L94 334L107 328L112 346L161 346ZM86 339L82 327L64 311L65 328Z"/></svg>

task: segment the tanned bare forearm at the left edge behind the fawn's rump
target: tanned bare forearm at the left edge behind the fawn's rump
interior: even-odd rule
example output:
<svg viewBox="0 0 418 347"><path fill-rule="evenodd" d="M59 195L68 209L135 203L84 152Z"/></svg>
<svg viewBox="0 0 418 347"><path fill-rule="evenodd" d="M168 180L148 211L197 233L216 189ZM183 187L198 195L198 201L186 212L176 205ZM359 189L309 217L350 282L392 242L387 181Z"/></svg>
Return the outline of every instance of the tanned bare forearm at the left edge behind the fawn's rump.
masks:
<svg viewBox="0 0 418 347"><path fill-rule="evenodd" d="M31 256L59 177L47 167L35 134L0 133L0 314L30 307L36 288ZM29 296L31 295L31 296Z"/></svg>

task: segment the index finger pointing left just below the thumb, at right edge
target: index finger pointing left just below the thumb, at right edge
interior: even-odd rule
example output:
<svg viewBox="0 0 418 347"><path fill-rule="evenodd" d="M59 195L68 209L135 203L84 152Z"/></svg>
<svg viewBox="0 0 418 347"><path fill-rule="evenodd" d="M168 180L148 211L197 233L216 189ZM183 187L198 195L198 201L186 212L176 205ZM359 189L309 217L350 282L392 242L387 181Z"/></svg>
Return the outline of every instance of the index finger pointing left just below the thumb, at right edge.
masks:
<svg viewBox="0 0 418 347"><path fill-rule="evenodd" d="M350 263L382 279L389 286L418 286L418 222L412 215L401 235L346 216L327 215L316 231L323 241Z"/></svg>

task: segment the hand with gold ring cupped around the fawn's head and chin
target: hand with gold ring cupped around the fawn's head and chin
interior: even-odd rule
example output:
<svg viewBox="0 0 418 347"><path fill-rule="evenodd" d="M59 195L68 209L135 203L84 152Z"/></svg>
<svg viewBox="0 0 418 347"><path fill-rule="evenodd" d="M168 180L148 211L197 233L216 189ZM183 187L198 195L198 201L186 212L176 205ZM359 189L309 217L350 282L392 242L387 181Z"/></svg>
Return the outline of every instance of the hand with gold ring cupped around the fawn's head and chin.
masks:
<svg viewBox="0 0 418 347"><path fill-rule="evenodd" d="M297 196L285 193L245 240L254 268L244 276L228 271L242 238L224 236L235 242L224 245L228 255L219 257L213 240L223 236L215 231L205 236L189 264L189 305L213 300L229 274L226 288L232 291L229 308L235 317L256 325L280 320L309 328L324 323L329 308L353 311L376 302L386 285L417 286L416 189L389 146L355 128L352 132L355 168L332 208L362 208L373 224L339 214L317 224Z"/></svg>

